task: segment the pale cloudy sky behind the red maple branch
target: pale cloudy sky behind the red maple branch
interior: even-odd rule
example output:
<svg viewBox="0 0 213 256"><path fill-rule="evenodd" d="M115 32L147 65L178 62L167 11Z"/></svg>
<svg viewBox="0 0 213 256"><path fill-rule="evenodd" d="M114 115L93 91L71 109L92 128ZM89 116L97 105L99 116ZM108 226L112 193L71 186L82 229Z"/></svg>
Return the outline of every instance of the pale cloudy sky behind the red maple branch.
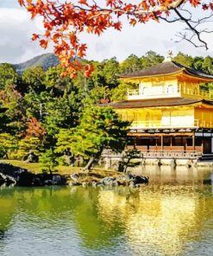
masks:
<svg viewBox="0 0 213 256"><path fill-rule="evenodd" d="M195 11L195 10L194 10ZM148 50L167 56L168 51L177 54L213 55L213 35L208 35L210 50L194 48L188 42L175 42L181 30L180 23L148 22L133 27L123 22L122 32L110 29L101 36L81 35L88 45L87 59L103 61L116 57L123 61L130 54L141 56ZM41 19L30 20L27 11L20 8L17 0L0 0L0 63L21 63L39 54L53 52L43 50L38 42L31 41L33 33L42 33Z"/></svg>

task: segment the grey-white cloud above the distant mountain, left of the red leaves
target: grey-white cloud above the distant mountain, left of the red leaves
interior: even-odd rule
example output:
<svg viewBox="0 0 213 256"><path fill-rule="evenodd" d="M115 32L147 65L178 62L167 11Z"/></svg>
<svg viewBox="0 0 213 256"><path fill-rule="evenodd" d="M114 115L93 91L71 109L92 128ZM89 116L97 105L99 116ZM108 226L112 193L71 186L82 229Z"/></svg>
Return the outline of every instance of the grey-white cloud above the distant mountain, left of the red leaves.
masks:
<svg viewBox="0 0 213 256"><path fill-rule="evenodd" d="M31 41L34 32L41 33L41 22L32 22L25 10L1 8L0 63L18 63L45 53L38 43Z"/></svg>

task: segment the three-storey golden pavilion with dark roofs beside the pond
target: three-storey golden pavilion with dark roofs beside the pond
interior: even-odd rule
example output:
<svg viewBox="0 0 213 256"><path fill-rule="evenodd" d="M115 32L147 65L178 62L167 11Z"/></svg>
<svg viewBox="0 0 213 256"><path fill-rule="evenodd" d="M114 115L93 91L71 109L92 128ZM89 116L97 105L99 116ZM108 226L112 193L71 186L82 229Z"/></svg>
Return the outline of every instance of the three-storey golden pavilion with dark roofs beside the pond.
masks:
<svg viewBox="0 0 213 256"><path fill-rule="evenodd" d="M137 85L127 100L110 103L131 121L128 148L164 157L213 156L213 76L166 61L121 80Z"/></svg>

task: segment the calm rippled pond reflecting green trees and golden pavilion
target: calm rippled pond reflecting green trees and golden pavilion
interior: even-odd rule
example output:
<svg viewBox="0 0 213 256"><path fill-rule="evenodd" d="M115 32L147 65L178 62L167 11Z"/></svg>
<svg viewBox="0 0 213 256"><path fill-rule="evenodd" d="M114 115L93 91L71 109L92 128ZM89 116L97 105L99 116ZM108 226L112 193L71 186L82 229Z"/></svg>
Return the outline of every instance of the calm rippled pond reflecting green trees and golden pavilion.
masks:
<svg viewBox="0 0 213 256"><path fill-rule="evenodd" d="M213 255L211 170L143 173L132 190L1 188L0 255Z"/></svg>

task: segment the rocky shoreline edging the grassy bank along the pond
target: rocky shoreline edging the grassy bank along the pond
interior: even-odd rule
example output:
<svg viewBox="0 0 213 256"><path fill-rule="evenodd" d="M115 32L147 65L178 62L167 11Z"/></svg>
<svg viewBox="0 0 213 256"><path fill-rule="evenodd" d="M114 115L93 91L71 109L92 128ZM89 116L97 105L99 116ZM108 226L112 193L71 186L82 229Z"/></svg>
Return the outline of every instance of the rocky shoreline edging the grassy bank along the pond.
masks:
<svg viewBox="0 0 213 256"><path fill-rule="evenodd" d="M8 186L13 184L19 187L69 185L83 187L128 186L138 188L141 184L148 183L148 177L101 169L83 171L80 168L69 175L62 175L60 172L35 174L27 169L17 167L9 163L9 161L3 161L0 162L0 185L3 183Z"/></svg>

